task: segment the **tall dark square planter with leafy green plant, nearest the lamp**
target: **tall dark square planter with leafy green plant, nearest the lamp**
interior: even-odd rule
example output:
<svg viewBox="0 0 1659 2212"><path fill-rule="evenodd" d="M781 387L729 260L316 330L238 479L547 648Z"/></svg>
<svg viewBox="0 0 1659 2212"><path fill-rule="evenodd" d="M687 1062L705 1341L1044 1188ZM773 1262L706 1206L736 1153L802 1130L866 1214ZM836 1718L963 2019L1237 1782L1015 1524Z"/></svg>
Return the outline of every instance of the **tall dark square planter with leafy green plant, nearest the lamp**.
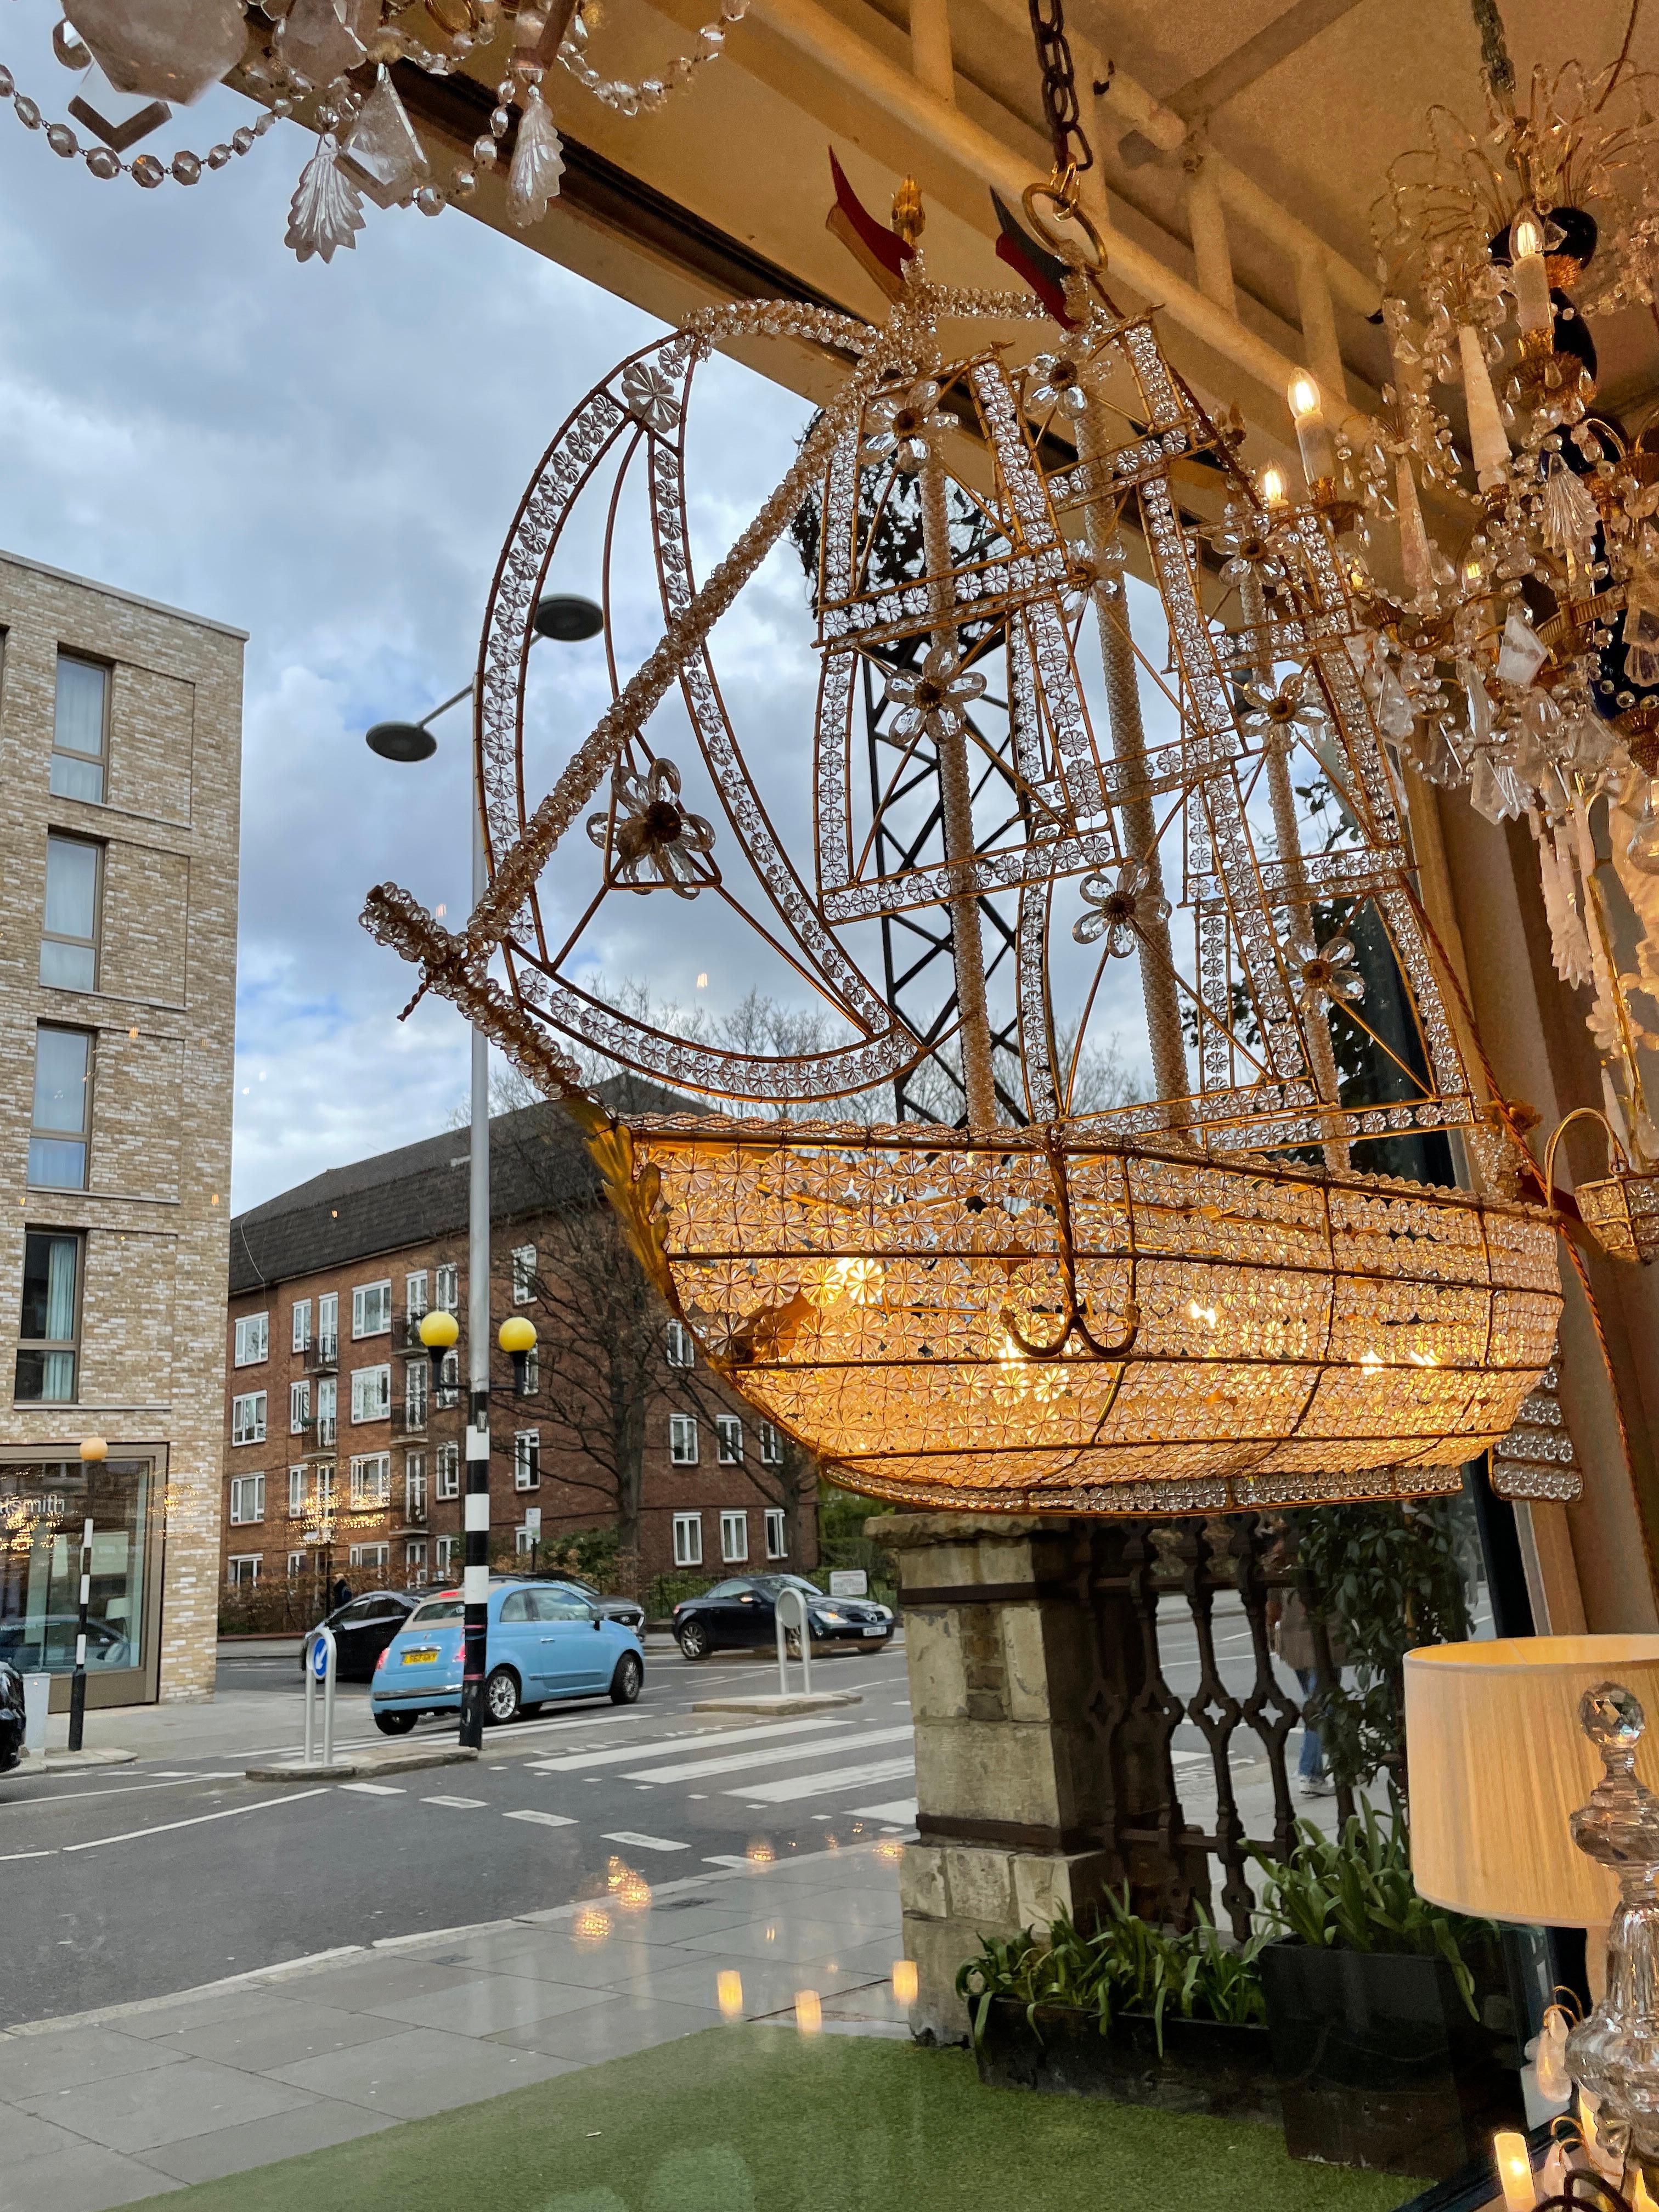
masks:
<svg viewBox="0 0 1659 2212"><path fill-rule="evenodd" d="M1256 1865L1292 2159L1440 2181L1526 2128L1498 1927L1418 1896L1398 1807L1340 1840L1301 1820L1290 1858Z"/></svg>

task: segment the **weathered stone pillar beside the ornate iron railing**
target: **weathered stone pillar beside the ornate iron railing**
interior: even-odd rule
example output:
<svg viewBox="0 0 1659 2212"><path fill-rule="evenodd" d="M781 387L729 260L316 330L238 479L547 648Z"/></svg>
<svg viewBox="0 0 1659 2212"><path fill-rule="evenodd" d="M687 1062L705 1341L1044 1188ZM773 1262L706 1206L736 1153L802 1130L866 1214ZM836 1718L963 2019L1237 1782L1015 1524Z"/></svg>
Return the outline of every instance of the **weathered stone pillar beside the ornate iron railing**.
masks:
<svg viewBox="0 0 1659 2212"><path fill-rule="evenodd" d="M898 1555L916 1723L911 2022L964 2042L956 1973L982 1936L1057 1911L1088 1927L1124 1880L1137 1909L1181 1918L1208 1893L1203 1851L1181 1847L1155 1650L1148 1668L1155 1599L1141 1619L1099 1522L896 1513L867 1535Z"/></svg>

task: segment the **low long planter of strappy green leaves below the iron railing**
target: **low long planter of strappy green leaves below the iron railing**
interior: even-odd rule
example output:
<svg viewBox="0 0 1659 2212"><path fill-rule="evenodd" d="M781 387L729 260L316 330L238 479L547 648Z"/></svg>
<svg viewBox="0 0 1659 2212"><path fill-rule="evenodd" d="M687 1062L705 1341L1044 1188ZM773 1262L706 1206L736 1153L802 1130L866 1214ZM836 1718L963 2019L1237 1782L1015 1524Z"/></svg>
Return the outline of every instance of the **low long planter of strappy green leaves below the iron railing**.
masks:
<svg viewBox="0 0 1659 2212"><path fill-rule="evenodd" d="M980 2079L1168 2112L1279 2119L1254 1953L1199 1911L1181 1936L1108 1896L1086 1936L1062 1913L1046 1938L984 1938L956 1978Z"/></svg>

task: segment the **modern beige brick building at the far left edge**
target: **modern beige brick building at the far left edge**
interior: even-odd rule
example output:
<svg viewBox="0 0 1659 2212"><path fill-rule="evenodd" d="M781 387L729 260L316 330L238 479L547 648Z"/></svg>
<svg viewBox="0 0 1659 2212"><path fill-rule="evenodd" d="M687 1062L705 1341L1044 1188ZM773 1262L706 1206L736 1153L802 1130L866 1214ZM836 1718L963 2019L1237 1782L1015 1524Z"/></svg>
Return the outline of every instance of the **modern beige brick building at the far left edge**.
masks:
<svg viewBox="0 0 1659 2212"><path fill-rule="evenodd" d="M212 1692L243 633L0 553L0 1657ZM84 1469L80 1442L108 1460Z"/></svg>

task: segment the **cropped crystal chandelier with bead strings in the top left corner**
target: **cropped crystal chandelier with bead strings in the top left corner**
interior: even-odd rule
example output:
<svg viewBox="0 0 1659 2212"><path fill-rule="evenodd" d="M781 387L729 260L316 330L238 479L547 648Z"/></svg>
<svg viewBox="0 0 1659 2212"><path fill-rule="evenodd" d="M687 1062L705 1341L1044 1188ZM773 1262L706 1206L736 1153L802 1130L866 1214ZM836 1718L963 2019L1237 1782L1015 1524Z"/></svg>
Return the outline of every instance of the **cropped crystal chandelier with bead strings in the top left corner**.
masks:
<svg viewBox="0 0 1659 2212"><path fill-rule="evenodd" d="M319 133L290 208L285 243L301 261L332 261L356 246L363 201L440 215L478 190L478 170L504 166L507 212L538 223L557 199L564 153L542 97L546 71L568 71L619 115L661 108L712 62L748 0L719 0L688 53L659 77L626 84L588 60L588 0L73 0L53 31L53 53L77 77L51 117L51 102L18 91L0 66L0 100L27 131L44 131L66 161L100 179L131 177L144 190L199 184L252 153L281 117ZM447 77L480 64L500 69L489 128L467 161L438 177L409 119L400 75ZM133 153L164 131L173 106L232 82L265 104L257 122L195 153ZM405 75L407 82L407 75ZM128 159L131 155L131 159Z"/></svg>

